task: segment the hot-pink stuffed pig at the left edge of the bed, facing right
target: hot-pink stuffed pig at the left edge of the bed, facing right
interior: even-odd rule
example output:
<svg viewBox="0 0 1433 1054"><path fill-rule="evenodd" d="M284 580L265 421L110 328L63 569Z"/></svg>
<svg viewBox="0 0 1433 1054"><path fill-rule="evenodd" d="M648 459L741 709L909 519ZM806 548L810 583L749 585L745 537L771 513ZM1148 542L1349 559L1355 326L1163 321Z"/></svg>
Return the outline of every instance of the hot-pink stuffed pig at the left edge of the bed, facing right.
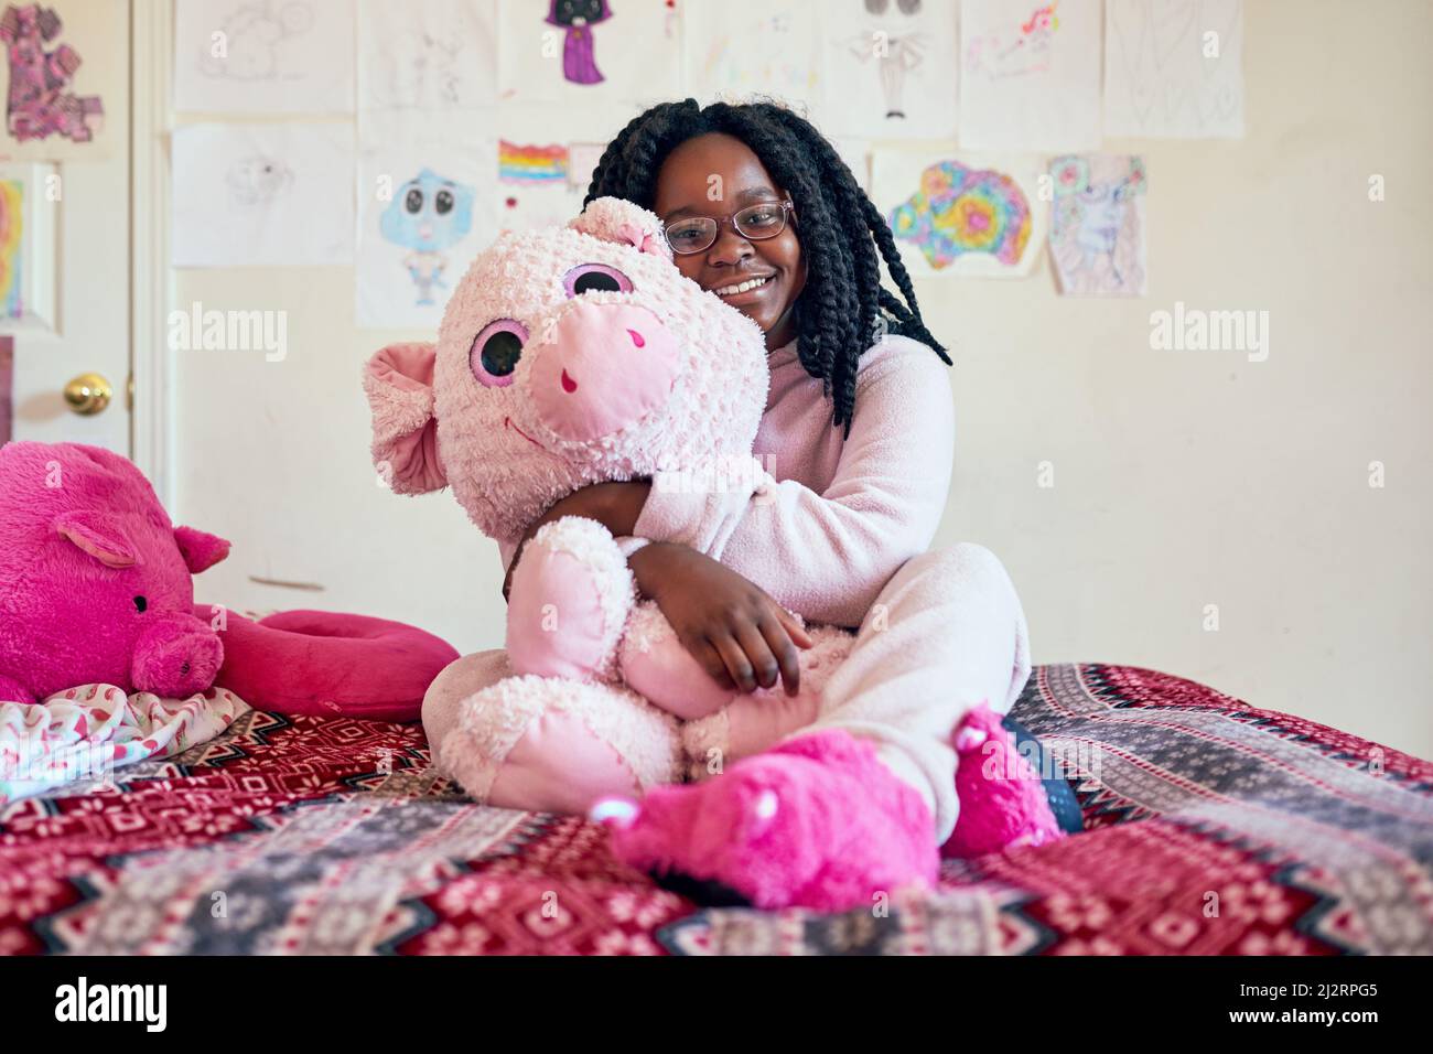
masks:
<svg viewBox="0 0 1433 1054"><path fill-rule="evenodd" d="M214 683L218 634L189 578L229 543L173 526L119 455L76 443L0 447L0 700L77 684L183 697Z"/></svg>

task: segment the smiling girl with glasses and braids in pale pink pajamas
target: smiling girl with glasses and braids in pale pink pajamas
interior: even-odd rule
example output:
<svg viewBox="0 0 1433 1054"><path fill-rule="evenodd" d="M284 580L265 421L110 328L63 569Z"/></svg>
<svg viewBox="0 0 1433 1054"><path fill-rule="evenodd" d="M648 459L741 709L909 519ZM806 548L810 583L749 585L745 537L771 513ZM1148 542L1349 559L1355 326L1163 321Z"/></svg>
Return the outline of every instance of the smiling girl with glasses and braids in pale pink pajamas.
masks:
<svg viewBox="0 0 1433 1054"><path fill-rule="evenodd" d="M950 359L891 232L835 149L771 103L653 106L602 155L588 201L608 195L661 217L681 271L765 333L755 449L774 479L755 493L600 483L532 532L580 515L652 539L629 561L638 588L741 691L795 690L810 641L787 609L858 627L817 724L797 739L841 730L873 744L877 779L898 782L877 790L916 802L913 855L933 862L957 816L952 731L982 701L1006 713L1030 661L1000 562L976 545L926 552L950 483ZM898 297L881 287L883 261ZM503 667L502 652L481 652L433 685L423 720L436 759L463 698Z"/></svg>

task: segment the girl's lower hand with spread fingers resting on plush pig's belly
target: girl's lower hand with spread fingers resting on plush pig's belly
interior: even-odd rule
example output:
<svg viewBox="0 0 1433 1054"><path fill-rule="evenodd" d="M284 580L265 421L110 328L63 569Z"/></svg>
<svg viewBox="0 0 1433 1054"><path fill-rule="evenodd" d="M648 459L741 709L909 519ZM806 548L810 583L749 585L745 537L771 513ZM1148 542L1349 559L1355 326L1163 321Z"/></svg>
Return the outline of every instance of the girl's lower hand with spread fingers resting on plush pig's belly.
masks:
<svg viewBox="0 0 1433 1054"><path fill-rule="evenodd" d="M810 648L801 622L762 589L685 545L652 542L628 558L643 597L676 637L728 690L770 688L780 675L788 695L801 687L797 648Z"/></svg>

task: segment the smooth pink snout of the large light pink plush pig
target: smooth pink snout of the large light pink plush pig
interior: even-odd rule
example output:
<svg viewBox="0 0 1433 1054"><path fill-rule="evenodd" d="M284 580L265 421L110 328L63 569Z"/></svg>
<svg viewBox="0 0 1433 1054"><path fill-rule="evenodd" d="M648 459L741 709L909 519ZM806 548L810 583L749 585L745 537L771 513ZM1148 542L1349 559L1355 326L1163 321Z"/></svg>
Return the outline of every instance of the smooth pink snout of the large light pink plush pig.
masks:
<svg viewBox="0 0 1433 1054"><path fill-rule="evenodd" d="M532 354L539 419L579 443L610 436L662 406L679 370L676 338L633 304L572 304Z"/></svg>

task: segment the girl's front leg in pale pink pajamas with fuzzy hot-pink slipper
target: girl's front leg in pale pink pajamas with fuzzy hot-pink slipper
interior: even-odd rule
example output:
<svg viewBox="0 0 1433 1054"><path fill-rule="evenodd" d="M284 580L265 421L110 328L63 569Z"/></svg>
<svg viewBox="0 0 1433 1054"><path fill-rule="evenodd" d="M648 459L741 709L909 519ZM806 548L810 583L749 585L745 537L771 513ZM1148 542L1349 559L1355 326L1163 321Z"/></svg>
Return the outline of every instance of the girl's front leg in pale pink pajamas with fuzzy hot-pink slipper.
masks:
<svg viewBox="0 0 1433 1054"><path fill-rule="evenodd" d="M622 859L762 908L870 903L934 878L959 815L954 731L982 703L1005 714L1029 673L1000 562L977 545L926 554L881 591L811 728L719 779L595 816Z"/></svg>

